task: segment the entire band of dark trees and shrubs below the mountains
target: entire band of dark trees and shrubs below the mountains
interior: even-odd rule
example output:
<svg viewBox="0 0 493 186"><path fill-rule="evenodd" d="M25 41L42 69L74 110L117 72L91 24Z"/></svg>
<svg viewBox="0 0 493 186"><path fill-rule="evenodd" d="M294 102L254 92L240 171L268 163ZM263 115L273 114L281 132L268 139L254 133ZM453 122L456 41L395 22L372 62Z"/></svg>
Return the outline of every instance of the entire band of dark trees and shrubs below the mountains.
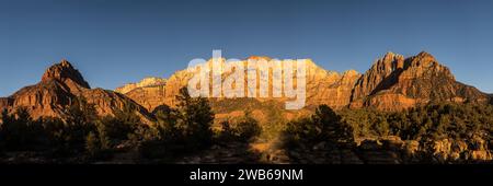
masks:
<svg viewBox="0 0 493 186"><path fill-rule="evenodd" d="M41 163L91 163L133 152L137 163L170 163L230 143L237 143L237 150L241 147L251 155L254 153L249 148L251 144L275 140L277 146L270 148L282 150L288 163L307 163L302 161L303 153L318 154L307 159L324 159L332 152L340 159L348 155L347 152L360 158L371 141L377 147L370 150L408 155L404 155L404 163L468 162L491 158L491 105L438 103L404 112L333 111L320 105L311 116L271 126L260 124L246 111L240 118L225 119L214 126L215 114L209 101L191 97L186 89L182 89L176 98L175 107L162 105L152 112L153 125L141 123L130 111L98 117L94 106L83 98L67 108L69 115L64 120L32 119L26 108L11 114L3 111L0 155L26 153L24 158L15 159L16 162L28 156L39 159ZM386 146L389 142L400 146L391 149ZM413 143L417 147L410 150L408 144ZM276 154L268 155L262 160L260 154L257 162L268 163Z"/></svg>

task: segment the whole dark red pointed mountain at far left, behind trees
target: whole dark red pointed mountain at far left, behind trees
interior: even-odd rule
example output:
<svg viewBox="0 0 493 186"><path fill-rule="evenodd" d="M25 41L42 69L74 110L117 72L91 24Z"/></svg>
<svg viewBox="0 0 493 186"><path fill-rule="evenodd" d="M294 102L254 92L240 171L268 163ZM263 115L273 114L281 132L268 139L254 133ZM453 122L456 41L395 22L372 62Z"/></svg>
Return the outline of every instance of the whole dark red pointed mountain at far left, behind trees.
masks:
<svg viewBox="0 0 493 186"><path fill-rule="evenodd" d="M129 109L140 116L142 121L149 121L147 111L125 95L103 89L91 89L82 74L67 60L49 67L37 84L23 88L9 97L1 97L0 111L14 112L23 107L34 119L65 118L69 107L79 101L94 105L100 116Z"/></svg>

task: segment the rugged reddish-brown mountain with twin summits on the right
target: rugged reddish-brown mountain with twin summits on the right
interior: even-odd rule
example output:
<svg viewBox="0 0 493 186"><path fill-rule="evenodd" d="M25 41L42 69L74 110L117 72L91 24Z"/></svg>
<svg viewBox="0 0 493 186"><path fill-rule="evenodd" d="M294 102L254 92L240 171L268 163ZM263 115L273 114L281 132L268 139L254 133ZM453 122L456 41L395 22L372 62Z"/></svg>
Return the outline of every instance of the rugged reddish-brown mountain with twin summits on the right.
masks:
<svg viewBox="0 0 493 186"><path fill-rule="evenodd" d="M457 82L450 70L427 53L403 59L387 54L354 89L352 107L400 111L429 102L488 103L488 95Z"/></svg>

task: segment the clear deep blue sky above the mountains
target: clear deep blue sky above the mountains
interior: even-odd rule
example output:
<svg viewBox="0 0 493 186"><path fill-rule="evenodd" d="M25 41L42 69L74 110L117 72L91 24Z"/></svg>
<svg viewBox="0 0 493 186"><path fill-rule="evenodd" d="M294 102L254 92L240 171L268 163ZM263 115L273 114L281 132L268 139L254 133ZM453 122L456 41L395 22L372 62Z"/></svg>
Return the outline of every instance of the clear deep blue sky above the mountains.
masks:
<svg viewBox="0 0 493 186"><path fill-rule="evenodd" d="M493 92L492 0L0 0L0 96L67 58L92 86L168 78L194 58L311 58L365 72L426 50Z"/></svg>

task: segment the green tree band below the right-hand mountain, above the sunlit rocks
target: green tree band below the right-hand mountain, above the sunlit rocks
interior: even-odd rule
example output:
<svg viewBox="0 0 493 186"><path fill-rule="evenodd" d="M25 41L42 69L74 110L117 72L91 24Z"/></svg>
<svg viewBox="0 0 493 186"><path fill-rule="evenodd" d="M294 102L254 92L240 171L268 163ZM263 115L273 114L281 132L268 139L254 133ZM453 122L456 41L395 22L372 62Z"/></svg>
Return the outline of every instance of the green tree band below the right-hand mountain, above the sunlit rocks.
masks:
<svg viewBox="0 0 493 186"><path fill-rule="evenodd" d="M404 112L372 109L342 111L343 120L355 136L399 136L405 140L468 139L474 133L492 133L493 106L484 104L437 103ZM488 136L486 141L490 140Z"/></svg>

